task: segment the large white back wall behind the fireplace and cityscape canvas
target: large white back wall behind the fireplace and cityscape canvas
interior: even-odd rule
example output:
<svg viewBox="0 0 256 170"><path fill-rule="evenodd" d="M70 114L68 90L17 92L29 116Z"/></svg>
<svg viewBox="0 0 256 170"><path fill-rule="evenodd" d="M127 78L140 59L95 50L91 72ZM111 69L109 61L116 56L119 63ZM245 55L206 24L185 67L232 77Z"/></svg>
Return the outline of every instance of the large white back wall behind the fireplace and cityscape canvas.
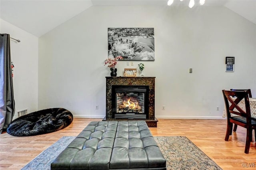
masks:
<svg viewBox="0 0 256 170"><path fill-rule="evenodd" d="M228 8L94 6L39 38L38 109L105 116L107 29L115 27L154 28L155 61L143 63L145 76L156 77L157 118L218 119L222 89L256 95L256 25ZM235 57L235 72L224 71L226 56ZM120 61L118 76L139 63Z"/></svg>

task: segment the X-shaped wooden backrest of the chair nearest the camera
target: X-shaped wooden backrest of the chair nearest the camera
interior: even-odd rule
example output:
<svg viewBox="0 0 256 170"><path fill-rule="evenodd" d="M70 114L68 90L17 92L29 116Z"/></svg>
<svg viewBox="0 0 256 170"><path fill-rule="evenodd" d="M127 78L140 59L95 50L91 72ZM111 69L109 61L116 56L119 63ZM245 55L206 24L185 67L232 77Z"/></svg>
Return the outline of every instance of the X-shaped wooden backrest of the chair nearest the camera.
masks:
<svg viewBox="0 0 256 170"><path fill-rule="evenodd" d="M227 118L231 118L231 114L246 117L246 122L251 125L251 110L248 96L248 90L232 91L222 90L224 102L226 105ZM244 99L244 104L242 100ZM245 108L245 110L243 109Z"/></svg>

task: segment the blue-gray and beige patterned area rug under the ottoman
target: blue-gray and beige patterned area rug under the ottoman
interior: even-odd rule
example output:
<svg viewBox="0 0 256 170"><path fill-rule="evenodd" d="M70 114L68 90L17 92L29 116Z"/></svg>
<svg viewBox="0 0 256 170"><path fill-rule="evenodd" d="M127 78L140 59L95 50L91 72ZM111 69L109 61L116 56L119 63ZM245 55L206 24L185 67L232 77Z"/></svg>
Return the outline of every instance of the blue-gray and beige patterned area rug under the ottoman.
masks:
<svg viewBox="0 0 256 170"><path fill-rule="evenodd" d="M74 136L60 138L60 140L24 166L22 170L50 170L52 161L74 138ZM160 136L154 138L166 159L167 170L222 170L185 136Z"/></svg>

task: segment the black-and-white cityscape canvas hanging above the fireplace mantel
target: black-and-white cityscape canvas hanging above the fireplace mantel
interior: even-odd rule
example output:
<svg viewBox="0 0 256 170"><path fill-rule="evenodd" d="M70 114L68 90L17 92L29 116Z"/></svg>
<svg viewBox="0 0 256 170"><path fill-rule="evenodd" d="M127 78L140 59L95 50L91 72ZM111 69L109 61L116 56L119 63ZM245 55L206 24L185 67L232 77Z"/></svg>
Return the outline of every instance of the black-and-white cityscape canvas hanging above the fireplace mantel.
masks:
<svg viewBox="0 0 256 170"><path fill-rule="evenodd" d="M108 58L154 61L154 28L108 28Z"/></svg>

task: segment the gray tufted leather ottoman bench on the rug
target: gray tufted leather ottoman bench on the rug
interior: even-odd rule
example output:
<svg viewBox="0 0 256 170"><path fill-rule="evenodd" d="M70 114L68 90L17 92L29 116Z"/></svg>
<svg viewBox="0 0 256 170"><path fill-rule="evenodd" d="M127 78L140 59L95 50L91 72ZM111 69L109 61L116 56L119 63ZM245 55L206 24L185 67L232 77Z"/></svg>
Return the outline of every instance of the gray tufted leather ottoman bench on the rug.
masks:
<svg viewBox="0 0 256 170"><path fill-rule="evenodd" d="M52 162L51 170L166 170L144 121L90 122Z"/></svg>

